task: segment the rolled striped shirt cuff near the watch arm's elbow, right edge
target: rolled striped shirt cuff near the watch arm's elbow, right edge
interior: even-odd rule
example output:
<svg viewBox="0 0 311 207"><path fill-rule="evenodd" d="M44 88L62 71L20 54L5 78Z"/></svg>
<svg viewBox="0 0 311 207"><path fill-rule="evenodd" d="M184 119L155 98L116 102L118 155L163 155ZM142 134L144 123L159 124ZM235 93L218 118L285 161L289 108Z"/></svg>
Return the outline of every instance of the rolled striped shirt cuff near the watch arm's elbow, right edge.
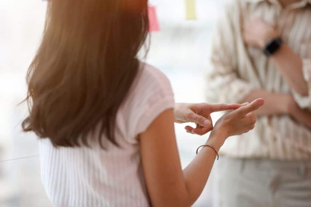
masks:
<svg viewBox="0 0 311 207"><path fill-rule="evenodd" d="M301 94L293 91L293 96L298 106L302 109L310 109L311 110L311 60L303 59L302 60L302 72L304 75L304 79L308 85L308 95L302 96Z"/></svg>

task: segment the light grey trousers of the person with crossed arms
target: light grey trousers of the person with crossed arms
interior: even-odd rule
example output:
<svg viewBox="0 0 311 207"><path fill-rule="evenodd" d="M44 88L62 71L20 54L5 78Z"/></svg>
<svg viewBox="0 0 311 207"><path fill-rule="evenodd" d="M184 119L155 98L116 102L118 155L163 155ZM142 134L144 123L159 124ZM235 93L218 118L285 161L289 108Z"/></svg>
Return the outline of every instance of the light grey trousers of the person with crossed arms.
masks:
<svg viewBox="0 0 311 207"><path fill-rule="evenodd" d="M311 161L220 157L213 207L311 207Z"/></svg>

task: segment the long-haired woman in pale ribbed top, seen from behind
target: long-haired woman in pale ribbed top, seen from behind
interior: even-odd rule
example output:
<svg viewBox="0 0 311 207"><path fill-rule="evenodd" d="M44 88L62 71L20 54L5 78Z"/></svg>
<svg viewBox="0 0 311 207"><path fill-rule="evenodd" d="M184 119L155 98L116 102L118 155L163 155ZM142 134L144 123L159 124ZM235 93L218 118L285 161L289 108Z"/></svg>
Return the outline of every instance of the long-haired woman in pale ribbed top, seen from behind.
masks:
<svg viewBox="0 0 311 207"><path fill-rule="evenodd" d="M49 2L23 128L41 138L42 180L55 206L190 206L225 139L254 127L262 99L178 104L174 118L169 80L137 59L147 16L146 0ZM219 110L233 111L182 170L174 120L195 121L205 127L187 130L202 134Z"/></svg>

